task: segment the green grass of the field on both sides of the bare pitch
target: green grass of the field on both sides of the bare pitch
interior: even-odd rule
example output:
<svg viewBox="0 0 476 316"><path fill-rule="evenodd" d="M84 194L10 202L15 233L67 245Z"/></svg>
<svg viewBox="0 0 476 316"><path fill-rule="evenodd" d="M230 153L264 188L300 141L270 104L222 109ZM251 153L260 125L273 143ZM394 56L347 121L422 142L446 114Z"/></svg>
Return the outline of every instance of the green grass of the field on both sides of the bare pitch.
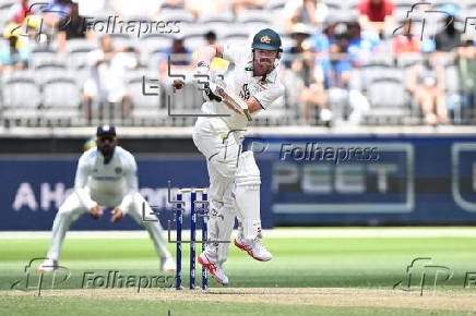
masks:
<svg viewBox="0 0 476 316"><path fill-rule="evenodd" d="M343 229L345 230L345 229ZM0 240L0 289L24 289L24 267L29 259L43 257L48 239ZM407 280L406 267L416 257L431 257L435 265L447 266L453 276L437 284L438 291L476 293L464 289L467 271L476 271L475 238L342 238L342 239L266 239L265 244L274 258L258 263L230 245L226 271L233 288L368 288L391 290L398 280ZM200 248L200 247L199 247ZM183 281L187 284L188 246L183 246ZM175 253L174 246L170 251ZM68 239L63 245L61 266L71 271L68 281L55 288L81 288L85 271L106 276L119 271L122 276L164 276L158 272L158 259L147 239ZM37 265L37 264L36 264ZM415 270L415 275L418 275ZM172 285L172 275L167 275L167 285ZM35 285L35 272L29 275ZM431 277L431 276L430 276ZM45 277L45 284L50 284ZM197 275L200 280L200 274ZM209 280L211 287L219 287ZM164 283L162 283L164 285ZM417 281L413 282L417 291ZM46 285L48 287L48 285ZM431 290L429 287L425 289ZM100 301L100 304L97 304ZM15 306L22 306L21 309ZM166 302L151 300L114 300L99 297L36 297L1 296L0 315L72 315L93 308L96 315L124 315L140 311L140 315L430 315L428 311L412 308L324 307L272 305L263 303ZM410 307L410 306L408 306ZM8 308L3 313L1 308ZM138 308L138 309L136 309ZM31 312L28 312L31 311ZM46 311L49 311L48 313ZM264 311L266 314L264 314ZM226 313L225 313L226 312ZM45 314L39 314L45 313ZM400 314L398 314L400 313ZM449 315L433 311L431 315ZM129 313L130 314L130 313ZM451 315L467 315L453 313Z"/></svg>

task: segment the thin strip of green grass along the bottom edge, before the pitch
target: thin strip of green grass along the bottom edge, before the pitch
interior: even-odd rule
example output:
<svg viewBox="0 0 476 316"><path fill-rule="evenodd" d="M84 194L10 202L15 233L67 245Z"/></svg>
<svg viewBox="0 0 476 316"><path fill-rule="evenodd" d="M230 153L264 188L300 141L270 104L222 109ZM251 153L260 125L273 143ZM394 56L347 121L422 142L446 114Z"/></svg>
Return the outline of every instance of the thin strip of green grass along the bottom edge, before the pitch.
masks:
<svg viewBox="0 0 476 316"><path fill-rule="evenodd" d="M0 297L1 315L84 315L93 312L94 315L154 315L167 316L210 316L210 315L471 315L466 312L449 311L420 311L415 308L378 308L378 307L333 307L333 306L299 306L272 304L243 304L243 303L204 303L182 302L180 304L160 301L124 301L115 299L86 299L86 297L14 297L7 302ZM5 303L5 304L3 304Z"/></svg>

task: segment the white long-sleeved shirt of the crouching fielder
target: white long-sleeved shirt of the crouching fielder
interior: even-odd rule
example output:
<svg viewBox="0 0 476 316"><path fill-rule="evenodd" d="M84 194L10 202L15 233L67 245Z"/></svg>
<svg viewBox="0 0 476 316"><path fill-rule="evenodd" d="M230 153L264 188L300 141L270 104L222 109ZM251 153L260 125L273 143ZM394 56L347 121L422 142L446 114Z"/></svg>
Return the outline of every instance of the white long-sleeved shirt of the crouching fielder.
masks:
<svg viewBox="0 0 476 316"><path fill-rule="evenodd" d="M116 146L108 163L94 147L85 151L78 162L74 192L87 209L97 204L119 207L127 212L139 190L136 171L134 157L122 147Z"/></svg>

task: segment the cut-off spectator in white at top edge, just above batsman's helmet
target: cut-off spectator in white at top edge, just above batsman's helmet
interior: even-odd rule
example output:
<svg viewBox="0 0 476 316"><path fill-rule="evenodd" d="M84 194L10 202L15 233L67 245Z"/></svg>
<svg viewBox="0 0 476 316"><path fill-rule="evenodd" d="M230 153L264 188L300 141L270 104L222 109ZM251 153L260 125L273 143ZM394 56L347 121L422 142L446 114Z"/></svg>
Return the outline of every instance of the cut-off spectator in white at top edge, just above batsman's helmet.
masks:
<svg viewBox="0 0 476 316"><path fill-rule="evenodd" d="M293 29L296 23L304 23L316 27L321 25L328 17L328 5L321 0L288 0L284 7L285 26Z"/></svg>

